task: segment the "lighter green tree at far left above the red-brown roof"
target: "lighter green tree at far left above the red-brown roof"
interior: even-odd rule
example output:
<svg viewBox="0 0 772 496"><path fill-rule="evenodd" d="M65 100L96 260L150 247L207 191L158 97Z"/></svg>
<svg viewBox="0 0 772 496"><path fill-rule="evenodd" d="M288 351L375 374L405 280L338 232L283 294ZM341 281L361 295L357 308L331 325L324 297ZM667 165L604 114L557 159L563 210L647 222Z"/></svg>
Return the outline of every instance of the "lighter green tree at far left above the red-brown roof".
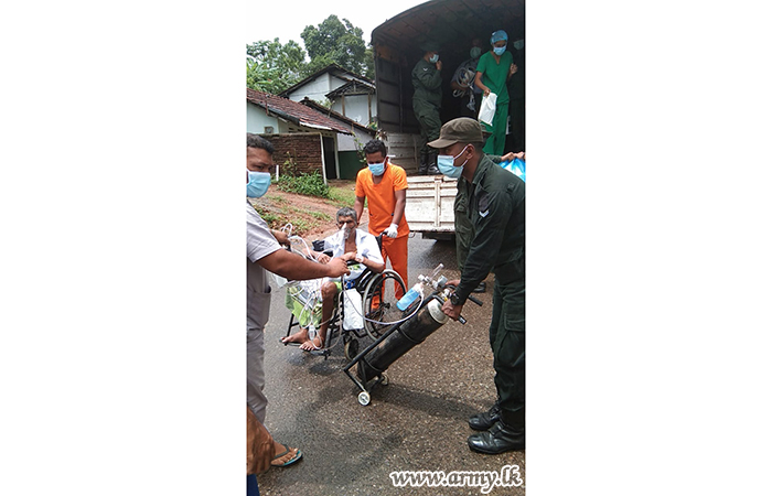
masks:
<svg viewBox="0 0 772 496"><path fill-rule="evenodd" d="M282 45L279 39L247 45L247 87L278 94L303 76L305 52L294 41Z"/></svg>

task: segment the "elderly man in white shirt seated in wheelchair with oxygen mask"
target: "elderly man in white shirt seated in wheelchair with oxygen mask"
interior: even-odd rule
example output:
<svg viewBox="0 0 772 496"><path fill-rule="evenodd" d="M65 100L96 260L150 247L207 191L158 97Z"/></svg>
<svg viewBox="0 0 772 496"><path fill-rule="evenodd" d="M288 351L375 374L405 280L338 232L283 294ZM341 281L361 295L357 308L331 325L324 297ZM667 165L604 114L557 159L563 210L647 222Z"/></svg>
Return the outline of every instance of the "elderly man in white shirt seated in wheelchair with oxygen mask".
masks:
<svg viewBox="0 0 772 496"><path fill-rule="evenodd" d="M332 257L341 257L350 265L351 274L346 276L343 283L349 287L362 276L367 269L372 272L380 273L386 265L378 241L369 233L357 229L358 222L356 212L351 207L343 207L337 211L337 227L340 230L324 239L324 247L321 251L311 250L311 256L320 263L326 263L331 257L324 251L332 251ZM301 327L294 334L281 338L285 344L300 343L300 349L318 351L324 346L330 321L333 316L336 296L343 290L340 280L325 279L322 283L322 319L319 325L319 333L309 338L308 327Z"/></svg>

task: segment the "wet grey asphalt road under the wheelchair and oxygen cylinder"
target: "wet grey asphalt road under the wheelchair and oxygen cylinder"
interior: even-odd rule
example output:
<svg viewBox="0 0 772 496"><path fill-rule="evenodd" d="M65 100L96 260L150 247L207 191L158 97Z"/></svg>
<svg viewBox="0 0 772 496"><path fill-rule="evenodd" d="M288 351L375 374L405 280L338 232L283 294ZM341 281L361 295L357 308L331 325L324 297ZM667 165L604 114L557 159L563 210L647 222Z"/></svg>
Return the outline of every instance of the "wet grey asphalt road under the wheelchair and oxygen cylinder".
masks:
<svg viewBox="0 0 772 496"><path fill-rule="evenodd" d="M416 235L408 256L408 288L439 262L448 280L459 277L452 241ZM303 460L258 476L260 494L479 495L481 488L469 485L395 487L389 473L501 472L517 465L523 484L494 487L490 494L525 495L525 451L483 455L467 445L474 433L467 419L496 397L487 339L493 281L490 274L485 293L475 294L482 308L464 305L465 325L449 321L395 362L387 371L389 384L371 391L367 407L357 402L360 389L343 373L342 339L326 360L279 342L290 312L285 290L275 288L266 327L266 425L277 441L300 448Z"/></svg>

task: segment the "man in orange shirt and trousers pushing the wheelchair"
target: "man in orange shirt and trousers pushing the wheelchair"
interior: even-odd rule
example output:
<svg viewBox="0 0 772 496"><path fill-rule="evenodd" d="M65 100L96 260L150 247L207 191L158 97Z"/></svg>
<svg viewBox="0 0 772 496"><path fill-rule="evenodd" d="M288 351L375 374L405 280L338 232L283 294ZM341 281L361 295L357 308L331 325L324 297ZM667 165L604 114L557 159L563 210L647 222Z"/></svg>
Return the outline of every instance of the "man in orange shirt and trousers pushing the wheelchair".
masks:
<svg viewBox="0 0 772 496"><path fill-rule="evenodd" d="M405 220L405 197L407 192L407 174L399 165L389 163L386 157L386 145L380 140L371 140L364 148L367 169L356 174L356 202L354 211L356 218L362 218L362 211L367 198L369 209L369 234L378 236L384 233L383 257L392 262L392 268L403 278L405 285L410 285L407 279L407 235L410 227ZM403 296L401 288L397 288L396 298Z"/></svg>

